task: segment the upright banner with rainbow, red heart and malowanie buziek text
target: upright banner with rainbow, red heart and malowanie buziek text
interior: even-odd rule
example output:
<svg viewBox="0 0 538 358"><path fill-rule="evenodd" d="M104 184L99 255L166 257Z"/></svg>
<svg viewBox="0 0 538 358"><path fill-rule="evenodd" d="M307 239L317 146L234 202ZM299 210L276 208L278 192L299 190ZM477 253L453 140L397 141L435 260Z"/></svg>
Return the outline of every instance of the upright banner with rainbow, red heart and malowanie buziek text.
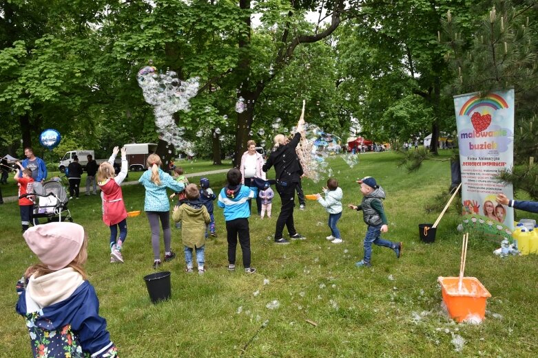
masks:
<svg viewBox="0 0 538 358"><path fill-rule="evenodd" d="M514 159L514 90L454 96L466 230L509 236L514 211L495 201L513 187L495 179Z"/></svg>

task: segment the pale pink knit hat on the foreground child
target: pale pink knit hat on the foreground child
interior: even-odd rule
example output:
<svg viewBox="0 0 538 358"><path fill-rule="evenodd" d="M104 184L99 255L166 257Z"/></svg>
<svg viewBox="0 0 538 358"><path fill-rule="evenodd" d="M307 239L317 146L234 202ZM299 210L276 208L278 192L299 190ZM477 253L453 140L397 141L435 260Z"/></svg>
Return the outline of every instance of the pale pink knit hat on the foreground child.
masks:
<svg viewBox="0 0 538 358"><path fill-rule="evenodd" d="M79 254L84 228L75 223L48 223L23 234L28 247L51 270L63 269Z"/></svg>

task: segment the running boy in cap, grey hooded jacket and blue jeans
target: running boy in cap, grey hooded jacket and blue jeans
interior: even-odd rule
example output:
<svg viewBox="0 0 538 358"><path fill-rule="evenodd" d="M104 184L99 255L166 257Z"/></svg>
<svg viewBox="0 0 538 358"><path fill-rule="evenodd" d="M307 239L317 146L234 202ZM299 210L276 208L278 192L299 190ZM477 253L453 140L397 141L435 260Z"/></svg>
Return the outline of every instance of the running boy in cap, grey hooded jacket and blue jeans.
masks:
<svg viewBox="0 0 538 358"><path fill-rule="evenodd" d="M382 232L388 232L389 221L386 220L383 210L382 200L385 199L383 188L377 186L373 177L364 177L357 181L360 183L360 192L363 195L360 205L347 205L353 210L362 210L364 223L368 225L366 237L364 238L364 258L359 262L355 262L357 267L370 267L370 258L372 254L372 244L377 246L390 247L396 253L396 258L400 258L402 254L402 243L393 243L389 240L381 238Z"/></svg>

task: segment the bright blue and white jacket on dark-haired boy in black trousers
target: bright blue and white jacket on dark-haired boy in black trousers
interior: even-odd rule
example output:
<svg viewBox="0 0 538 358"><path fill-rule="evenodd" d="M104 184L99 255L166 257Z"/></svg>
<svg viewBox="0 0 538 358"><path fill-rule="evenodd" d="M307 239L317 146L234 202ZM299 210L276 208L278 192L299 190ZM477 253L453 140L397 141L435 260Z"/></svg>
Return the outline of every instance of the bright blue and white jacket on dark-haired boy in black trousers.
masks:
<svg viewBox="0 0 538 358"><path fill-rule="evenodd" d="M225 186L218 194L217 205L224 208L225 221L248 218L250 208L248 200L254 198L254 192L248 186Z"/></svg>

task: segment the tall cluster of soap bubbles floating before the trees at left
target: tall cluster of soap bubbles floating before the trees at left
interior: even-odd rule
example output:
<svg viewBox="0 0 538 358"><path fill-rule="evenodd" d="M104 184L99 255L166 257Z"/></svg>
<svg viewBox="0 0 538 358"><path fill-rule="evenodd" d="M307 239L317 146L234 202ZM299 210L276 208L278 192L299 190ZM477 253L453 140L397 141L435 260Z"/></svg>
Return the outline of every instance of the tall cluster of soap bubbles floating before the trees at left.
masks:
<svg viewBox="0 0 538 358"><path fill-rule="evenodd" d="M173 115L177 111L189 111L189 100L196 96L198 91L198 78L182 81L175 71L158 73L157 69L150 65L138 71L136 80L142 89L144 100L154 106L155 124L161 139L174 144L176 148L189 147L190 142L183 139L184 130L176 126Z"/></svg>

